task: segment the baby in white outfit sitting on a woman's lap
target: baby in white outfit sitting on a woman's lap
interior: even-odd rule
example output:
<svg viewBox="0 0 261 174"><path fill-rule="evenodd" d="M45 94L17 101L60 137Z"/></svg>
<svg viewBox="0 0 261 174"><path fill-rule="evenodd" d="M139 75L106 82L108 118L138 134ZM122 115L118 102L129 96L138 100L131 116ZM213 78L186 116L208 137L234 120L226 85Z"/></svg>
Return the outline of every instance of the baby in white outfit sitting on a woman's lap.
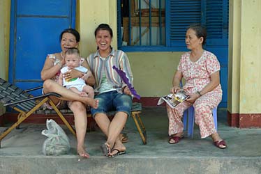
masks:
<svg viewBox="0 0 261 174"><path fill-rule="evenodd" d="M68 72L70 69L79 70L80 72L86 74L88 69L81 65L80 52L77 48L70 48L65 54L66 66L61 68L61 74L59 76L59 84L65 86L67 89L73 90L73 92L81 95L82 97L94 98L94 88L85 84L84 79L75 78L67 81L64 78L64 73Z"/></svg>

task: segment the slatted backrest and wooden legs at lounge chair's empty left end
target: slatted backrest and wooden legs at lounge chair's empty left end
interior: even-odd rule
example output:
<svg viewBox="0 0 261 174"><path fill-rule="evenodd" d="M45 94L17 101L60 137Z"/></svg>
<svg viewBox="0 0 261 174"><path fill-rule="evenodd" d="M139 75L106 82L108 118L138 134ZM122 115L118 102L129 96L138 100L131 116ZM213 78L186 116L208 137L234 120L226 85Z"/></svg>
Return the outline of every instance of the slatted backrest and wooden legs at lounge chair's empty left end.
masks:
<svg viewBox="0 0 261 174"><path fill-rule="evenodd" d="M40 87L42 88L42 87ZM29 91L36 90L38 88L33 88L30 90L22 90L21 88L17 88L17 86L14 86L13 84L10 84L8 81L5 81L4 79L0 78L0 100L1 103L3 103L3 106L10 106L15 111L18 112L17 116L17 122L15 122L11 127L6 129L1 135L0 135L0 147L1 147L1 140L9 134L15 127L19 126L25 119L27 119L29 116L31 116L32 113L34 113L37 109L40 108L45 102L48 102L54 111L58 114L58 116L61 118L61 120L65 123L65 125L70 129L70 132L72 132L75 135L75 130L73 127L70 126L66 118L61 114L59 109L57 109L57 106L50 100L50 96L56 96L61 97L61 95L57 93L47 93L45 95L39 95L36 97L33 97L33 95L30 95Z"/></svg>

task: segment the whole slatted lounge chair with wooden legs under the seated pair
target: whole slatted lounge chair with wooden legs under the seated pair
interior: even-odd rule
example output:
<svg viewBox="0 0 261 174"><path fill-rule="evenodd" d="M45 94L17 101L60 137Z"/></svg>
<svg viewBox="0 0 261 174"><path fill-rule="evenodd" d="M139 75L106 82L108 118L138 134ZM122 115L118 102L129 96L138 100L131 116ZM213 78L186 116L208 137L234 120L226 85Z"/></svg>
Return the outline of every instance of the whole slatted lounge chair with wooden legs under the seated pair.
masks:
<svg viewBox="0 0 261 174"><path fill-rule="evenodd" d="M41 88L41 87L39 87ZM40 95L37 97L33 97L28 92L31 90L36 90L38 88L33 88L30 90L22 90L21 88L17 88L17 86L14 86L10 84L8 81L5 81L0 78L0 100L1 103L3 103L4 106L10 106L15 111L18 112L17 116L17 122L15 122L10 128L8 128L5 132L3 132L0 135L0 147L1 147L1 139L3 139L7 134L9 134L15 127L19 127L19 125L29 116L31 116L32 113L37 114L52 114L57 113L58 116L61 118L61 120L64 122L64 124L70 129L70 132L72 132L75 135L75 130L71 125L68 123L66 118L64 118L63 114L69 113L73 114L70 109L57 109L57 106L50 100L49 96L54 95L57 97L61 97L57 93L47 93L45 95ZM49 102L52 106L52 109L43 109L43 104L45 102ZM147 144L147 136L146 136L146 129L144 127L144 124L142 122L142 119L140 118L140 113L142 113L142 104L138 102L133 102L133 106L131 109L131 116L135 122L135 125L137 127L137 131L140 134L140 137L142 139L142 142L144 144ZM106 113L107 116L114 116L115 112L111 111ZM90 110L87 109L87 116L91 117Z"/></svg>

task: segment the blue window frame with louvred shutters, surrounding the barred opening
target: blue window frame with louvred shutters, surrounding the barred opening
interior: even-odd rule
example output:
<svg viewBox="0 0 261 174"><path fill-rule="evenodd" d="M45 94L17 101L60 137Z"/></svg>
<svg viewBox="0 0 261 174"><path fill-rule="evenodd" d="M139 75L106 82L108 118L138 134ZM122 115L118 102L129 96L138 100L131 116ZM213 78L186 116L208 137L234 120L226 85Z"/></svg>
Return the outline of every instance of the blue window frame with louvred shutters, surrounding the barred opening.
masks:
<svg viewBox="0 0 261 174"><path fill-rule="evenodd" d="M229 0L165 0L165 45L121 46L121 0L117 0L118 49L124 52L186 52L186 28L207 28L207 47L228 46Z"/></svg>

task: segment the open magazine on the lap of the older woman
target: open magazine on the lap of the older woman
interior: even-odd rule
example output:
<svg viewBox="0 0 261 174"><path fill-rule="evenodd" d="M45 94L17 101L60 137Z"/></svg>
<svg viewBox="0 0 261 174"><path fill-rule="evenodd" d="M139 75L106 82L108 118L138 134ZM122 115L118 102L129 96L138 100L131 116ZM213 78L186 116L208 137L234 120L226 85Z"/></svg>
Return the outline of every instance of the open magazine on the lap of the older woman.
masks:
<svg viewBox="0 0 261 174"><path fill-rule="evenodd" d="M183 90L181 90L174 94L164 95L158 100L158 105L163 104L163 102L166 102L173 109L181 102L184 102L188 97L189 96L186 95Z"/></svg>

